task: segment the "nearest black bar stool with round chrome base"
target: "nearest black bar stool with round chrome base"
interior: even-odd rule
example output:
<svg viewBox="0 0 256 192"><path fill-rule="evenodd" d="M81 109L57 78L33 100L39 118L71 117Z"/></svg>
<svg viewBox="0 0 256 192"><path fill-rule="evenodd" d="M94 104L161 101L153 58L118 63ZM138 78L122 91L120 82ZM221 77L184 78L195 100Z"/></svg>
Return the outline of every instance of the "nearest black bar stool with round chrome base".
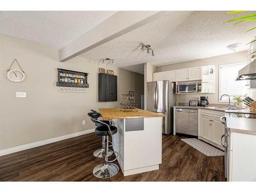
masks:
<svg viewBox="0 0 256 192"><path fill-rule="evenodd" d="M99 122L99 123L101 122L97 118L93 118L93 117L91 118L91 120L94 122ZM101 122L101 123L103 123L103 122ZM95 128L95 134L99 135L99 136L105 136L104 137L105 138L104 139L105 162L98 164L96 167L94 167L93 175L98 178L108 179L108 178L115 176L119 171L118 166L115 163L113 163L115 160L117 160L118 152L109 152L109 136L112 136L117 133L117 127L113 126L113 125L109 125L107 123L103 123L103 124L104 124L104 126L98 126ZM109 161L109 159L108 159L110 156L110 153L116 154L116 158L112 161Z"/></svg>

